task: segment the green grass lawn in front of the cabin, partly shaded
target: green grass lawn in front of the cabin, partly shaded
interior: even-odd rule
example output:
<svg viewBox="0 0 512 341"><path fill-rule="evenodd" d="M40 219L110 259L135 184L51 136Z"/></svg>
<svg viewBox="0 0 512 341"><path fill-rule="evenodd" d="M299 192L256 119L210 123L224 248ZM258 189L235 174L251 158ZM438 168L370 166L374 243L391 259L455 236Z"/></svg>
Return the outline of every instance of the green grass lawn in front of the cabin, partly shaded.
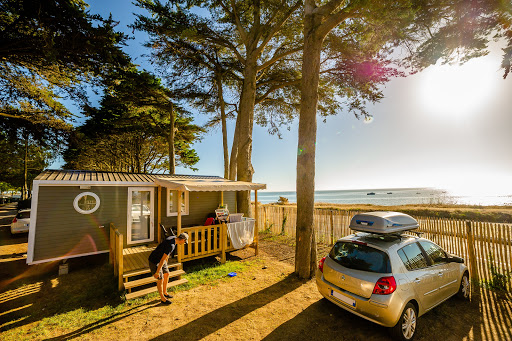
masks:
<svg viewBox="0 0 512 341"><path fill-rule="evenodd" d="M243 272L259 266L258 259L227 261L214 259L186 266L188 283L170 288L180 292L201 285L216 286L229 280L230 272ZM0 335L2 340L47 339L101 326L158 302L158 293L125 301L117 291L110 265L73 268L67 275L30 277L0 293ZM14 283L13 283L14 284Z"/></svg>

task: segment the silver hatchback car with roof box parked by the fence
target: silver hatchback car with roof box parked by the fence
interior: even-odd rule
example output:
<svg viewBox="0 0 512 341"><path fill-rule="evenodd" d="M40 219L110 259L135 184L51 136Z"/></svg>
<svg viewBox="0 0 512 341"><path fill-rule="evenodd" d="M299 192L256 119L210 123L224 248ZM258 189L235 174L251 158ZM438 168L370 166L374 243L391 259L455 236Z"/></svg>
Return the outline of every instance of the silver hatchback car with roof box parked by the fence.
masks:
<svg viewBox="0 0 512 341"><path fill-rule="evenodd" d="M341 308L412 340L417 318L453 295L469 299L464 260L418 235L414 218L396 212L356 215L357 232L339 239L316 273L320 293Z"/></svg>

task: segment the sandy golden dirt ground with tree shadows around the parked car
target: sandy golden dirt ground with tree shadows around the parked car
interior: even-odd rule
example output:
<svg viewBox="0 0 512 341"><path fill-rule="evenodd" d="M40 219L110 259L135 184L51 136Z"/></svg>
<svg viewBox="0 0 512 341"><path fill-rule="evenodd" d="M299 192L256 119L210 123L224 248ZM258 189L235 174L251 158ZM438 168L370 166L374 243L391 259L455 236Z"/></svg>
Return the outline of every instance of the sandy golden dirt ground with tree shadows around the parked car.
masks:
<svg viewBox="0 0 512 341"><path fill-rule="evenodd" d="M26 235L11 238L8 233L13 213L12 207L0 207L0 281L8 281L7 286L0 285L0 325L16 309L9 304L16 274L29 271L37 278L38 272L48 271L24 264ZM257 266L233 278L178 292L170 306L157 299L113 318L51 330L48 335L53 340L390 340L386 328L323 299L314 280L298 280L293 275L292 245L260 236L258 257L252 249L231 254L241 262L258 259ZM319 254L327 250L319 247ZM35 297L19 299L19 309ZM26 321L17 322L16 328L37 327L38 321ZM416 340L512 340L511 329L510 296L480 291L471 302L451 298L420 317Z"/></svg>

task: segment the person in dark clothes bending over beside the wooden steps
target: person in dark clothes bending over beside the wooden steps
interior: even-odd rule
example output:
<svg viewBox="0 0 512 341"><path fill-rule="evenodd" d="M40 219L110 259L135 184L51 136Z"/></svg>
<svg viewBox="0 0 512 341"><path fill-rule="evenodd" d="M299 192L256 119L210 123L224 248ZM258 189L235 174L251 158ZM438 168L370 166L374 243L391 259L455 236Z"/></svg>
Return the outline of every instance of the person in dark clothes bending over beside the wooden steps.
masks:
<svg viewBox="0 0 512 341"><path fill-rule="evenodd" d="M168 298L172 298L167 293L167 283L169 283L169 268L167 267L167 260L176 248L176 244L188 243L188 234L181 233L178 237L170 236L165 238L156 249L149 255L149 269L153 277L157 279L156 287L160 294L162 304L171 304Z"/></svg>

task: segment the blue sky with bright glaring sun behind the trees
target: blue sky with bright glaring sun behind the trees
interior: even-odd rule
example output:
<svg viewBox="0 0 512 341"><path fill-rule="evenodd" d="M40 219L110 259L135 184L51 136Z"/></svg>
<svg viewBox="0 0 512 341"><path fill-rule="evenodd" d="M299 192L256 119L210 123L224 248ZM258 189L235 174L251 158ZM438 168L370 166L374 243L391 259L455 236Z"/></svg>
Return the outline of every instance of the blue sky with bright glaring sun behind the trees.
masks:
<svg viewBox="0 0 512 341"><path fill-rule="evenodd" d="M127 25L141 12L126 0L89 0L91 13L112 13L134 39L124 50L148 70L145 33ZM512 194L512 77L502 79L501 51L458 65L436 65L386 84L385 98L368 107L373 119L346 111L318 120L316 190L435 187L468 194ZM207 116L198 113L195 122ZM228 125L231 143L234 122ZM298 119L282 139L254 127L253 182L294 191ZM198 172L223 175L220 128L194 145ZM57 165L58 166L58 165Z"/></svg>

